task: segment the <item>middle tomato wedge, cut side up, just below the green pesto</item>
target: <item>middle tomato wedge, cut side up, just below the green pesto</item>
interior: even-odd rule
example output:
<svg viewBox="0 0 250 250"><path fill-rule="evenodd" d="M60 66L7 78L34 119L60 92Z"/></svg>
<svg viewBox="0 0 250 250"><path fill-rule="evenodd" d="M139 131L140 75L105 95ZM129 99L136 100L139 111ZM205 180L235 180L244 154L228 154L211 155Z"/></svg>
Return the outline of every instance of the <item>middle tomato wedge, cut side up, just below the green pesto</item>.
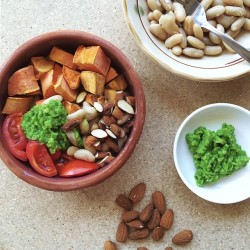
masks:
<svg viewBox="0 0 250 250"><path fill-rule="evenodd" d="M47 177L53 177L57 175L55 164L51 159L45 145L41 144L38 141L28 141L26 153L30 165L39 174Z"/></svg>

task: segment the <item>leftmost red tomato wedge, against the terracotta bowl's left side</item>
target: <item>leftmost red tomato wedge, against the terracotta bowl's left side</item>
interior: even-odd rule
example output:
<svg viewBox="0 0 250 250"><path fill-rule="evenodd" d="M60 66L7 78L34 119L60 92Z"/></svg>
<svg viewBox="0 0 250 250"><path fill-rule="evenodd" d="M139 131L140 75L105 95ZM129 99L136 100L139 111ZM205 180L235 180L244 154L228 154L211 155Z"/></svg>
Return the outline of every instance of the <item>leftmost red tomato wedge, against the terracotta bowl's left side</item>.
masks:
<svg viewBox="0 0 250 250"><path fill-rule="evenodd" d="M3 122L3 138L8 150L21 161L27 161L25 148L26 136L21 128L22 113L14 113L6 116Z"/></svg>

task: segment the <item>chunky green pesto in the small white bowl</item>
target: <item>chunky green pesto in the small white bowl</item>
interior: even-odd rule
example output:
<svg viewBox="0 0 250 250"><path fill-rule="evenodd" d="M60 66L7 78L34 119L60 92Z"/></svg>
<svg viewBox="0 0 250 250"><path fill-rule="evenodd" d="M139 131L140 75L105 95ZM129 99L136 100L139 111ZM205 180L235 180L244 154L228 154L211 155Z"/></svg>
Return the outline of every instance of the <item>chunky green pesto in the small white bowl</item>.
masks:
<svg viewBox="0 0 250 250"><path fill-rule="evenodd" d="M216 132L199 127L186 135L196 166L197 186L215 183L247 165L250 157L237 144L234 131L232 125L224 123Z"/></svg>

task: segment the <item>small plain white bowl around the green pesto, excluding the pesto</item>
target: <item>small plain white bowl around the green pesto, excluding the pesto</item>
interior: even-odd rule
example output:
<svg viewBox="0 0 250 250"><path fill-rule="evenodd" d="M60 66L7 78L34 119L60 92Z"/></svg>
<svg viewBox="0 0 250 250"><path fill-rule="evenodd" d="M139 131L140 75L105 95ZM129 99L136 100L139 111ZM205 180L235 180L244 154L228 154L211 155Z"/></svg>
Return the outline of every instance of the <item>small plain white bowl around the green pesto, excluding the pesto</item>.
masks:
<svg viewBox="0 0 250 250"><path fill-rule="evenodd" d="M214 184L198 187L195 182L195 165L185 136L199 126L218 130L223 123L235 127L236 140L250 156L250 111L229 103L215 103L191 113L179 127L174 141L174 162L185 185L199 197L214 203L230 204L250 197L250 163L232 175Z"/></svg>

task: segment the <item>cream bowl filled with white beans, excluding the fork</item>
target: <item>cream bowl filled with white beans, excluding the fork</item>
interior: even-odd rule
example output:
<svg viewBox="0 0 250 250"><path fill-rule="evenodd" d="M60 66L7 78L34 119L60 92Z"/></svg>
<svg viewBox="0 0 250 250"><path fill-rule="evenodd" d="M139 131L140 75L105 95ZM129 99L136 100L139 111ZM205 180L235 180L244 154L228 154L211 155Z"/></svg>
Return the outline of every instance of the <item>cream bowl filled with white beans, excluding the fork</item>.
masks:
<svg viewBox="0 0 250 250"><path fill-rule="evenodd" d="M250 50L250 0L202 0L209 22ZM236 79L250 64L217 36L195 24L171 0L123 1L129 29L139 47L163 68L204 82Z"/></svg>

